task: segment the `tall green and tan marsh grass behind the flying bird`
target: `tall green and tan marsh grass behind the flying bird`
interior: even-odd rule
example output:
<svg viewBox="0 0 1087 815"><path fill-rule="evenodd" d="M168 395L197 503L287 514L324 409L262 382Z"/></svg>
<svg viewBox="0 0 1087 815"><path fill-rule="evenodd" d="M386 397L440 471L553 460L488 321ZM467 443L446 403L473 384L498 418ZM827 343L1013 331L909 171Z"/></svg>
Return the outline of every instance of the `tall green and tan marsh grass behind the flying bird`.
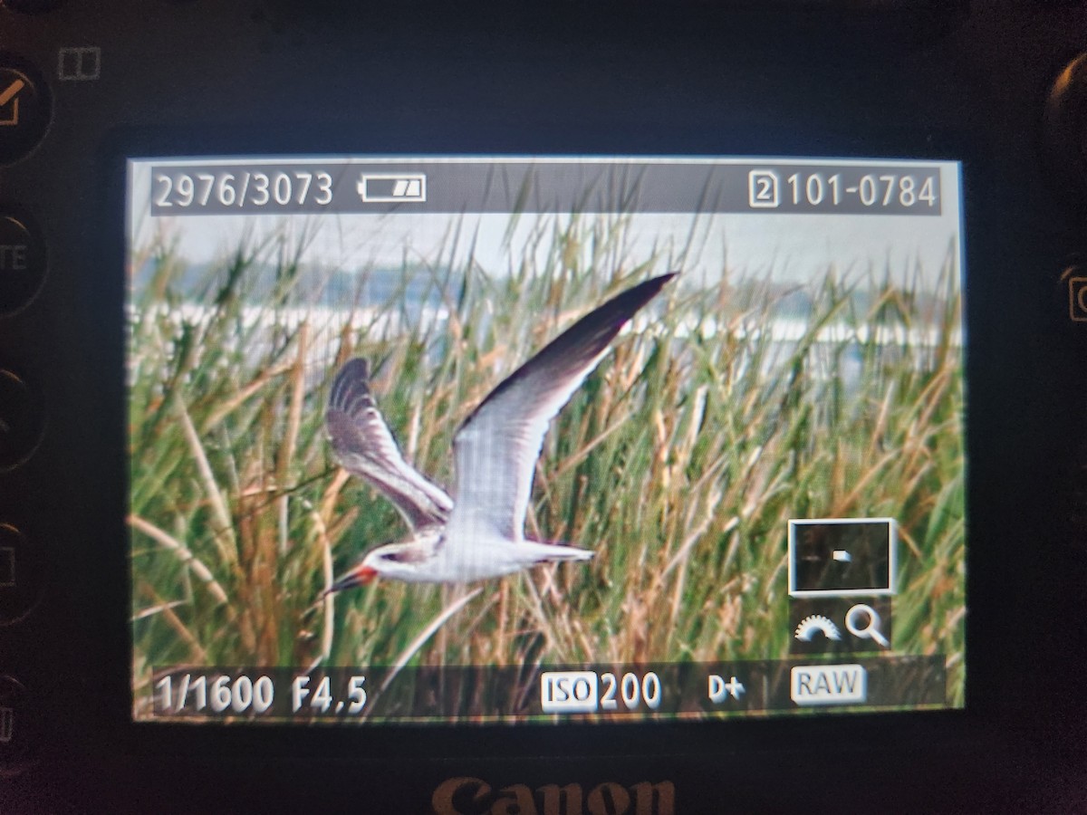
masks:
<svg viewBox="0 0 1087 815"><path fill-rule="evenodd" d="M591 548L591 563L482 584L417 648L455 589L379 580L334 610L316 603L333 574L405 531L330 457L323 414L338 365L371 360L407 456L451 487L452 435L503 376L590 308L669 271L621 258L598 229L541 230L544 260L508 276L441 259L405 269L413 297L423 280L422 310L407 283L364 302L365 271L338 308L316 305L324 273L282 244L242 242L197 284L168 241L134 256L137 697L152 666L172 664L784 657L786 522L852 515L900 522L896 647L947 654L961 702L953 254L927 294L824 269L796 287L805 305L791 315L797 292L780 286L680 275L560 413L537 466L527 531ZM571 252L577 241L599 249Z"/></svg>

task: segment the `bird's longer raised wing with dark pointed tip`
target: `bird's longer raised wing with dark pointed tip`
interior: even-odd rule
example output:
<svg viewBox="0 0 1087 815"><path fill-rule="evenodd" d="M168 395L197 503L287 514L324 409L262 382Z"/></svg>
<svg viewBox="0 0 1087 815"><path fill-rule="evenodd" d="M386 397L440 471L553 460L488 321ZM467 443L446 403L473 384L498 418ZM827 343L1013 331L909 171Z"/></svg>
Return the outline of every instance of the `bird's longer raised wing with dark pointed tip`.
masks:
<svg viewBox="0 0 1087 815"><path fill-rule="evenodd" d="M555 414L623 326L675 275L647 280L590 312L492 390L457 431L454 539L500 535L520 540L536 460Z"/></svg>

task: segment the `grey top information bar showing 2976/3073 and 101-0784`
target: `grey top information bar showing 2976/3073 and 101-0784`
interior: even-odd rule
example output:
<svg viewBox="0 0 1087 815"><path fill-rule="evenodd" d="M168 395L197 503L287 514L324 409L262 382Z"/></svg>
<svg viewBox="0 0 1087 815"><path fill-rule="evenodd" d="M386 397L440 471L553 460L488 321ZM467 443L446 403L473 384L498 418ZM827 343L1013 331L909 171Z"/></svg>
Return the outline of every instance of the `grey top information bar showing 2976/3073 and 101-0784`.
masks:
<svg viewBox="0 0 1087 815"><path fill-rule="evenodd" d="M849 161L161 162L153 215L292 213L941 213L941 165Z"/></svg>

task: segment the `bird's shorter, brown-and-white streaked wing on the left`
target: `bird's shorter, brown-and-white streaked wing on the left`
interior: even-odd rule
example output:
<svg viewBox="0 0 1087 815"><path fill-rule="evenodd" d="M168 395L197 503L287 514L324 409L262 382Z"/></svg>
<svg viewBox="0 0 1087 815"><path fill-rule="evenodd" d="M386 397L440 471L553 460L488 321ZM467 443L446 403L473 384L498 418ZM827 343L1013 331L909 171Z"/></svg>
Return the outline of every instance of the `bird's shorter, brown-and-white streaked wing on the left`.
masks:
<svg viewBox="0 0 1087 815"><path fill-rule="evenodd" d="M404 461L370 392L365 360L350 360L336 374L325 426L336 461L379 489L409 526L417 529L446 522L453 501Z"/></svg>

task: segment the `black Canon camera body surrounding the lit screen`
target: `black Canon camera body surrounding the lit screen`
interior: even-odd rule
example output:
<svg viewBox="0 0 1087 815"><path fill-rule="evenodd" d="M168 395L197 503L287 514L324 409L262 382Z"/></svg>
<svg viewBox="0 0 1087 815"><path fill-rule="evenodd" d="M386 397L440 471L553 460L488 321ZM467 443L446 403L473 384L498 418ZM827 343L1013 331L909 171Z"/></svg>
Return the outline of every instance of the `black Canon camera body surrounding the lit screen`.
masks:
<svg viewBox="0 0 1087 815"><path fill-rule="evenodd" d="M0 580L0 709L17 726L0 739L3 811L1075 808L1085 15L1075 3L0 8L0 552L18 568ZM133 579L128 162L480 155L959 163L964 705L513 726L139 720L134 617L173 612ZM729 677L717 678L721 697Z"/></svg>

